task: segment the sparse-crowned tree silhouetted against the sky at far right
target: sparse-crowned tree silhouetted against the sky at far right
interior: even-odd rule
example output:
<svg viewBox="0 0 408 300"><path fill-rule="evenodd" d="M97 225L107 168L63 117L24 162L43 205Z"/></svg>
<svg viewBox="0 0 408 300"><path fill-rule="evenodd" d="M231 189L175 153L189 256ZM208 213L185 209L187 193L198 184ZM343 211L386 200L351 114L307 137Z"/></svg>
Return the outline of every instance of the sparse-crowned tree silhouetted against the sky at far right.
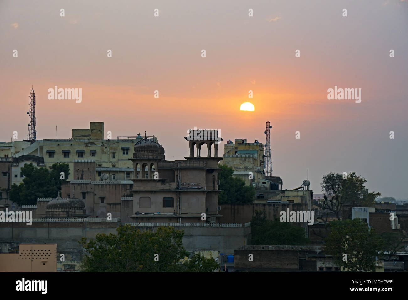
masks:
<svg viewBox="0 0 408 300"><path fill-rule="evenodd" d="M381 193L368 192L364 186L366 182L366 179L357 176L355 172L350 172L346 179L343 179L342 174L328 173L323 176L323 181L320 183L324 191L324 200L320 203L320 207L335 213L338 220L344 205L373 207L375 199L381 196Z"/></svg>

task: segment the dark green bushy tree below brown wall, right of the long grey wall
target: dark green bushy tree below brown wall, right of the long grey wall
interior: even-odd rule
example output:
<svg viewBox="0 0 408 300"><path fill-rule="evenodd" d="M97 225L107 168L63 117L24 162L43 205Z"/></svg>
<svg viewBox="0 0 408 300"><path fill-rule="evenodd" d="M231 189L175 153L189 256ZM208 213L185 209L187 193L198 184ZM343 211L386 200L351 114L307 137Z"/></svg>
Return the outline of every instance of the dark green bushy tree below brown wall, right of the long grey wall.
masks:
<svg viewBox="0 0 408 300"><path fill-rule="evenodd" d="M253 245L304 245L303 227L297 227L279 220L267 220L265 212L255 211L251 220L251 244Z"/></svg>

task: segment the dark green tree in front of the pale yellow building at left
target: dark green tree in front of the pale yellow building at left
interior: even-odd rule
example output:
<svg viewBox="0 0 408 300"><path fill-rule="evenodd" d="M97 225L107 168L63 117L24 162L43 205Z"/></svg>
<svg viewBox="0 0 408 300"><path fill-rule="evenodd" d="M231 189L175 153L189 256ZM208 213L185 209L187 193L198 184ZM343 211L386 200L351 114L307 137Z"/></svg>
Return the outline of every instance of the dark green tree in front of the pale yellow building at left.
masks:
<svg viewBox="0 0 408 300"><path fill-rule="evenodd" d="M24 179L19 185L14 183L11 186L10 200L19 205L34 205L37 198L57 197L62 181L60 172L65 172L65 176L69 176L69 165L53 164L49 171L46 167L37 168L33 163L24 164L24 167L21 167Z"/></svg>

